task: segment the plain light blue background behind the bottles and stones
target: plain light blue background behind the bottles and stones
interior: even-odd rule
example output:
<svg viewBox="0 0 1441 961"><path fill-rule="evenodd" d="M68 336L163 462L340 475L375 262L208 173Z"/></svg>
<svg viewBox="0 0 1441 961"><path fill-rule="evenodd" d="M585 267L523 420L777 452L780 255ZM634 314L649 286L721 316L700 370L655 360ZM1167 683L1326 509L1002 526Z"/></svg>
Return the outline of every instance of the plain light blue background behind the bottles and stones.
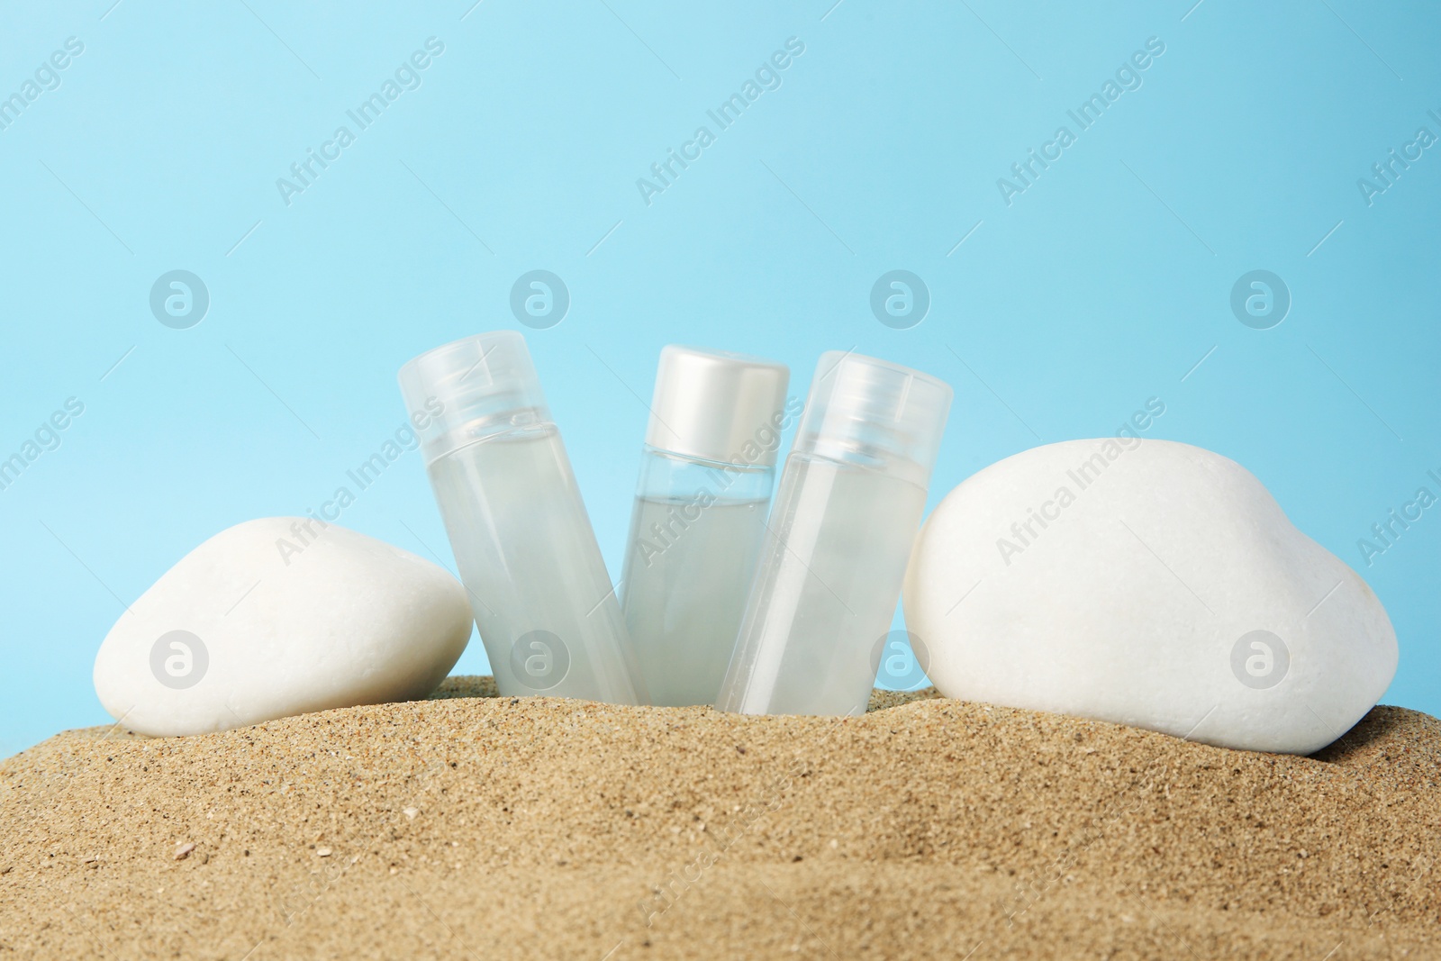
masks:
<svg viewBox="0 0 1441 961"><path fill-rule="evenodd" d="M1434 4L112 1L0 7L0 95L85 45L0 130L3 455L85 403L0 491L0 755L107 720L121 602L326 500L399 426L401 363L520 328L535 268L571 290L527 336L612 572L666 343L778 357L798 393L827 349L945 377L932 506L1159 396L1151 437L1238 460L1368 578L1388 703L1441 713L1441 510L1356 547L1441 473L1441 147L1372 206L1356 184L1441 133ZM277 177L431 36L422 85L287 206ZM647 206L637 179L793 36L781 88ZM1153 36L1143 86L1007 206L997 177ZM148 308L176 268L212 298L189 330ZM869 310L895 268L931 291L911 330ZM1272 330L1229 310L1255 268L1294 298ZM415 454L342 523L451 563Z"/></svg>

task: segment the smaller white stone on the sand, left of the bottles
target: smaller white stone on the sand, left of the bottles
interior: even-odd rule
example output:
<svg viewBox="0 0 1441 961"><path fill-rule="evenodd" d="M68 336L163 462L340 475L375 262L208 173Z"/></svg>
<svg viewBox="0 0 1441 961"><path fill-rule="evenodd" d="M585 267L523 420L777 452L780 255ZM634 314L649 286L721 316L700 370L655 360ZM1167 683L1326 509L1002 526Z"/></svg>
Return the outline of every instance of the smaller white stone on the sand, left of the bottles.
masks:
<svg viewBox="0 0 1441 961"><path fill-rule="evenodd" d="M336 524L264 517L210 537L130 605L95 657L95 693L140 733L225 730L424 697L470 633L445 569Z"/></svg>

